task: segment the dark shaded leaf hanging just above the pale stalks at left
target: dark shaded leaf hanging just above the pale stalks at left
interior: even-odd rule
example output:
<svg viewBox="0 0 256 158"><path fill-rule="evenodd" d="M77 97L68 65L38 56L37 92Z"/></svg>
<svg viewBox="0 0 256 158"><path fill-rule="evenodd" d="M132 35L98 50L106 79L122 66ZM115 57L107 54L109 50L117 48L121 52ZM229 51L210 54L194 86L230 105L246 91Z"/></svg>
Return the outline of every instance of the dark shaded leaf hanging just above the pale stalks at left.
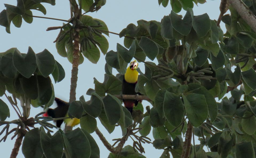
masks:
<svg viewBox="0 0 256 158"><path fill-rule="evenodd" d="M21 86L26 96L30 99L37 99L38 88L37 88L37 76L31 76L30 78L22 77L19 79Z"/></svg>

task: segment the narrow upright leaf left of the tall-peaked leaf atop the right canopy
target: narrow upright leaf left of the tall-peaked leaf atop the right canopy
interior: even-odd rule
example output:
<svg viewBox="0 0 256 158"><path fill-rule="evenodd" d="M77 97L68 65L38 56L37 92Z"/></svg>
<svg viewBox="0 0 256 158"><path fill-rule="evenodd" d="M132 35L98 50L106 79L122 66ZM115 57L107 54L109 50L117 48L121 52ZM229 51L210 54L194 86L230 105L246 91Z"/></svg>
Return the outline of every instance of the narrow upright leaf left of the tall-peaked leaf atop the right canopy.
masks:
<svg viewBox="0 0 256 158"><path fill-rule="evenodd" d="M170 16L164 16L161 22L161 35L166 39L173 39L173 27ZM145 52L145 51L144 51Z"/></svg>

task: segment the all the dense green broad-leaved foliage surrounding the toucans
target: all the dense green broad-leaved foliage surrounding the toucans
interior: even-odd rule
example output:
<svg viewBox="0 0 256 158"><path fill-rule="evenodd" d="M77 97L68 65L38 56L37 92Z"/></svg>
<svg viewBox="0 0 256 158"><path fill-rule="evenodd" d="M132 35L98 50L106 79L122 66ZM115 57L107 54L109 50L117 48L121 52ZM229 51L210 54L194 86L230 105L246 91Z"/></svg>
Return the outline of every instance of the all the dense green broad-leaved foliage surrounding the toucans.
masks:
<svg viewBox="0 0 256 158"><path fill-rule="evenodd" d="M16 27L20 27L23 20L32 23L31 10L46 14L43 2L55 5L55 0L17 0L17 6L5 4L0 25L10 33L11 22ZM169 0L158 2L164 7L169 4ZM82 129L65 133L59 129L51 135L45 133L44 128L50 131L54 125L47 121L54 119L40 117L40 114L29 118L30 104L43 105L45 109L53 104L54 88L49 75L52 74L55 83L65 77L64 69L49 51L35 53L29 47L27 53L20 53L16 48L0 53L0 95L6 95L6 91L12 94L13 99L8 97L10 103L18 107L16 98L19 99L23 110L23 117L11 122L18 124L12 132L17 135L19 129L26 131L26 126L35 123L42 126L26 131L22 145L24 156L99 157L100 149L90 135L97 129L95 118L99 118L109 133L121 126L123 136L135 138L132 146L123 147L119 154L110 153L110 158L145 157L141 154L142 143L150 143L147 135L151 130L153 146L163 150L161 158L170 154L181 157L184 150L190 157L255 157L256 34L232 6L229 7L231 14L221 18L226 24L225 34L207 14L194 15L194 4L205 2L170 0L172 11L159 17L162 18L159 22L138 20L137 24L124 28L119 33L119 37L124 38L124 46L118 43L117 51L108 51L109 44L103 35L109 35L106 24L81 14L81 9L85 13L97 11L106 0L81 0L80 15L66 20L61 27L48 28L61 30L55 41L56 48L70 63L77 49L73 44L75 31L79 32L79 64L84 57L96 64L100 51L105 55L104 82L94 78L94 89L86 93L91 100L85 101L81 96L69 106L69 117L81 119ZM254 0L243 2L256 14ZM184 16L177 14L181 9L186 10ZM123 75L133 58L141 62L140 66L145 65L145 73L138 68L136 91L145 95L152 106L144 111L139 103L131 115L122 106L119 94ZM152 62L145 61L147 58ZM112 74L113 68L118 74ZM231 97L224 97L226 93L231 93ZM0 100L0 125L6 124L0 134L5 130L8 133L10 123L5 120L10 116L9 107ZM199 137L200 144L184 149L182 137L189 135L190 128L190 132ZM204 151L204 146L211 152Z"/></svg>

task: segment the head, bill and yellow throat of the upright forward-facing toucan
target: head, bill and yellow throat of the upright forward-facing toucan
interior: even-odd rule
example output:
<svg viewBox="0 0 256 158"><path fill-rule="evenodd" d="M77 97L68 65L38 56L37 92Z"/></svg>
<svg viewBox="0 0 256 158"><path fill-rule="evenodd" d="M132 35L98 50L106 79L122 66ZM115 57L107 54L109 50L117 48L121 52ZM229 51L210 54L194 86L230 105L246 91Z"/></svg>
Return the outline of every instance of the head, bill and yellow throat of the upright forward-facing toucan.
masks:
<svg viewBox="0 0 256 158"><path fill-rule="evenodd" d="M128 83L136 83L138 81L138 63L136 60L130 63L130 66L127 68L125 73L125 81Z"/></svg>

